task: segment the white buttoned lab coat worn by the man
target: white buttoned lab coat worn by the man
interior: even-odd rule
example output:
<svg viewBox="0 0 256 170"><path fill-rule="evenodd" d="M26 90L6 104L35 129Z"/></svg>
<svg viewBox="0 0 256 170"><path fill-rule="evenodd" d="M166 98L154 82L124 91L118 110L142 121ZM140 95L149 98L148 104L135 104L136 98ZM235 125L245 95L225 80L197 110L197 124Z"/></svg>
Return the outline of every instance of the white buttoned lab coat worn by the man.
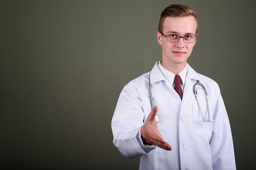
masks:
<svg viewBox="0 0 256 170"><path fill-rule="evenodd" d="M180 100L159 70L158 63L151 73L135 78L121 91L111 125L115 146L125 157L141 157L140 170L235 170L231 128L218 84L187 64ZM145 146L141 141L140 129L151 111L149 74L153 102L158 107L157 129L164 141L172 146L171 151ZM207 89L210 119L214 122L202 121L193 94L196 80ZM208 120L204 91L200 86L196 88L202 113Z"/></svg>

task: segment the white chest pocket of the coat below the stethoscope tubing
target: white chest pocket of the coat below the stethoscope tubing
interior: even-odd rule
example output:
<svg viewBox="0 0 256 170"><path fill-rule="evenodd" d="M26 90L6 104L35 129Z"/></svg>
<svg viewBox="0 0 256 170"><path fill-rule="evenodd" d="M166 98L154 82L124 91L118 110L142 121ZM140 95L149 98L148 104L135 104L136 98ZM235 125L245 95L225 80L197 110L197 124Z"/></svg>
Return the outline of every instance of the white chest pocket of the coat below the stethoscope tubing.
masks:
<svg viewBox="0 0 256 170"><path fill-rule="evenodd" d="M200 105L200 107L201 107L204 119L208 120L207 106ZM194 133L197 136L211 136L213 122L204 122L203 121L202 114L200 113L200 109L199 109L198 105L192 105L192 109L193 109Z"/></svg>

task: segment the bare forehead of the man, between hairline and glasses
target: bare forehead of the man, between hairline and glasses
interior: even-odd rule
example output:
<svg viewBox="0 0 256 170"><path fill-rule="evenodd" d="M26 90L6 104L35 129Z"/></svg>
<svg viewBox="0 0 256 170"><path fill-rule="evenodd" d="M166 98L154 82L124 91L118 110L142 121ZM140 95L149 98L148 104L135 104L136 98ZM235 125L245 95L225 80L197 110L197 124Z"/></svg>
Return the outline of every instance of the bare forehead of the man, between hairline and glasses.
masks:
<svg viewBox="0 0 256 170"><path fill-rule="evenodd" d="M195 17L166 17L164 20L164 33L177 32L180 34L193 33L195 34L197 23Z"/></svg>

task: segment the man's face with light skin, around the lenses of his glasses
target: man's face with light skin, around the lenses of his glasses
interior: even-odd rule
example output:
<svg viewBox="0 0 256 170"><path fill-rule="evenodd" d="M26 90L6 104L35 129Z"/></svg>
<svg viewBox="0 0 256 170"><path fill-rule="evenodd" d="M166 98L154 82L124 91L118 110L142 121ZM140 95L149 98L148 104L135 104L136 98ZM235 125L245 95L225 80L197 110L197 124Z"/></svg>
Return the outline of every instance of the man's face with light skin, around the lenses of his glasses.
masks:
<svg viewBox="0 0 256 170"><path fill-rule="evenodd" d="M163 34L177 34L180 37L184 35L195 35L197 24L193 16L187 17L166 17L164 21ZM193 47L196 43L185 43L183 38L178 42L169 42L159 31L157 31L157 41L162 45L162 65L168 67L175 65L176 67L186 66Z"/></svg>

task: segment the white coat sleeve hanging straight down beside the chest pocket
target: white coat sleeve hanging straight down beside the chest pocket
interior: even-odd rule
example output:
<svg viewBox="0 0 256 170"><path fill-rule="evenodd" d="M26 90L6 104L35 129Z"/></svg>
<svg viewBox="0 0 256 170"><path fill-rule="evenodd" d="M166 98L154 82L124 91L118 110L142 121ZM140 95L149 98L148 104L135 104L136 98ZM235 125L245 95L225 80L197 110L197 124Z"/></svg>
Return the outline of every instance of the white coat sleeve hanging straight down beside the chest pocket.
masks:
<svg viewBox="0 0 256 170"><path fill-rule="evenodd" d="M218 85L215 94L217 100L210 141L213 170L236 170L231 127Z"/></svg>

